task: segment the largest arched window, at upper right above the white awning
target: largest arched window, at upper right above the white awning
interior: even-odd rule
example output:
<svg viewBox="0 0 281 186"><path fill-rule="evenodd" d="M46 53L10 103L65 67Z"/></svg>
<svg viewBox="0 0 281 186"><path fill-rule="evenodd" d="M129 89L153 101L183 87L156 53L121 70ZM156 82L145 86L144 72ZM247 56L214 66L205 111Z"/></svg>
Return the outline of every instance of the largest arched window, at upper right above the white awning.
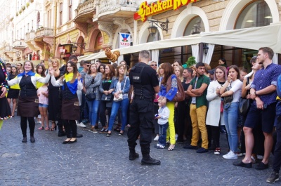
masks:
<svg viewBox="0 0 281 186"><path fill-rule="evenodd" d="M240 13L235 29L263 27L273 22L270 9L266 1L254 1Z"/></svg>

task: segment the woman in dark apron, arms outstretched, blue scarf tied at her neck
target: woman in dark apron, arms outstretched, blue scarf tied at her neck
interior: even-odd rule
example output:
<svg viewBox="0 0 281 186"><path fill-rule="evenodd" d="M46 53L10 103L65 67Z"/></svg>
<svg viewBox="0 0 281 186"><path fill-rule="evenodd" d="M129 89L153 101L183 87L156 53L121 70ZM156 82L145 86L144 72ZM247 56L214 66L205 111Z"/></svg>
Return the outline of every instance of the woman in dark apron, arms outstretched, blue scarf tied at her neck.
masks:
<svg viewBox="0 0 281 186"><path fill-rule="evenodd" d="M30 127L30 142L35 142L34 117L38 116L38 96L37 96L37 82L46 84L50 75L45 78L40 77L34 72L34 65L31 61L23 63L23 72L17 77L8 81L9 86L15 84L20 85L20 96L18 98L18 116L20 116L20 128L22 129L22 142L27 142L27 120Z"/></svg>

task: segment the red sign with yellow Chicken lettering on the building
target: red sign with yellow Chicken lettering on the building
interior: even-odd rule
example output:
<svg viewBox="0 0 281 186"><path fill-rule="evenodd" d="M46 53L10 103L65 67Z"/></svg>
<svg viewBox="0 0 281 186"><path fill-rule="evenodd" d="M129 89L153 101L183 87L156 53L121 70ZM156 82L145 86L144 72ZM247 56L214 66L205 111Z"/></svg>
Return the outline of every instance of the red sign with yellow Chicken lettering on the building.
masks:
<svg viewBox="0 0 281 186"><path fill-rule="evenodd" d="M187 6L188 4L196 1L198 0L158 0L157 2L152 4L148 4L147 1L144 1L143 3L141 3L139 10L134 13L133 19L145 22L146 20L148 20L149 16L157 15L169 10L176 11L178 8Z"/></svg>

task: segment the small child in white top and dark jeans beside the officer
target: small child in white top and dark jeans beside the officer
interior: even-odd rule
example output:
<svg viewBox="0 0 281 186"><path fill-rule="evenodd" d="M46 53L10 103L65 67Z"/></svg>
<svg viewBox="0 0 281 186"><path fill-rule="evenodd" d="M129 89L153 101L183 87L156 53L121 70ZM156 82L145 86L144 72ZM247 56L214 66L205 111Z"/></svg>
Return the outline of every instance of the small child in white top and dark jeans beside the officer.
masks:
<svg viewBox="0 0 281 186"><path fill-rule="evenodd" d="M159 140L156 145L157 149L164 149L166 146L166 130L169 126L169 115L170 115L170 110L166 105L162 105L161 101L158 103L159 109L158 113L155 114L155 119L158 119L158 124L159 124Z"/></svg>

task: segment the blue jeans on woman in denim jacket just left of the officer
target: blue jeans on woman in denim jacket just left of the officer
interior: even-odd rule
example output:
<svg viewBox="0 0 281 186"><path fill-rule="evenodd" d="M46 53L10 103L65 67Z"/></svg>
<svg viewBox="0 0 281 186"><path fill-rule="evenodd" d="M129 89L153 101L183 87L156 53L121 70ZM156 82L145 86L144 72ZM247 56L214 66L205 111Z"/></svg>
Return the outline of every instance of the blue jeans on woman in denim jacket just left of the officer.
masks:
<svg viewBox="0 0 281 186"><path fill-rule="evenodd" d="M112 109L111 109L111 114L110 114L110 121L108 124L108 131L112 131L112 127L113 127L113 123L115 120L115 117L118 113L118 109L121 106L122 109L122 126L121 126L121 131L124 131L126 123L127 123L127 111L128 111L128 107L129 107L129 100L128 98L119 101L119 102L113 102L112 103Z"/></svg>

